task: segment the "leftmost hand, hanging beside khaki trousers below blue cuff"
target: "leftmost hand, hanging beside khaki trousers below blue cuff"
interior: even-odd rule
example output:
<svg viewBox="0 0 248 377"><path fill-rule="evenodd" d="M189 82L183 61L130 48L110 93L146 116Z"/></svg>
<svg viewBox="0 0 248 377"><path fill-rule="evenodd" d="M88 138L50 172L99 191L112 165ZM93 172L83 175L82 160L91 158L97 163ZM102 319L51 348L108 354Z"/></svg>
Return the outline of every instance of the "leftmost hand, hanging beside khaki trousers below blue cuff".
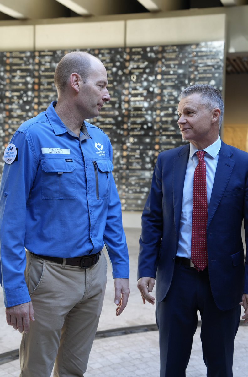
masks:
<svg viewBox="0 0 248 377"><path fill-rule="evenodd" d="M34 311L32 301L25 302L21 305L5 309L6 321L8 325L18 329L19 333L29 332L29 321L34 321Z"/></svg>

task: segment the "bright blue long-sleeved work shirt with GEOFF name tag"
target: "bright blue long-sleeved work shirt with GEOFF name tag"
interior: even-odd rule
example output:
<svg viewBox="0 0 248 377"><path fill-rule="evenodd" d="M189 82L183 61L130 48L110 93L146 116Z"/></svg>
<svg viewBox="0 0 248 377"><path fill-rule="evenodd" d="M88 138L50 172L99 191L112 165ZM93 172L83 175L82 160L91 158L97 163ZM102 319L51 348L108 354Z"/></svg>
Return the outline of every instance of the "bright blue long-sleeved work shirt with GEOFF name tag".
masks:
<svg viewBox="0 0 248 377"><path fill-rule="evenodd" d="M113 277L129 277L110 140L86 121L76 136L55 106L56 101L19 127L11 139L17 159L3 169L0 256L6 307L30 301L25 248L68 258L98 253L105 244Z"/></svg>

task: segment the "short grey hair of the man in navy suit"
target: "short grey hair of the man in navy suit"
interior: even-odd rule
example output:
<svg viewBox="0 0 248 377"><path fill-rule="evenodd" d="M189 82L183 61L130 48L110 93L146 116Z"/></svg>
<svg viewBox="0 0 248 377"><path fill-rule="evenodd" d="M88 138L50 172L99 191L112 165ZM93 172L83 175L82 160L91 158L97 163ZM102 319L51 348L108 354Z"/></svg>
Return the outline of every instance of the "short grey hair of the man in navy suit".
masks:
<svg viewBox="0 0 248 377"><path fill-rule="evenodd" d="M209 110L216 109L217 107L221 110L221 115L219 116L220 129L224 115L224 101L220 91L208 84L196 84L182 90L179 98L181 100L181 98L195 93L201 95L201 104L205 105Z"/></svg>

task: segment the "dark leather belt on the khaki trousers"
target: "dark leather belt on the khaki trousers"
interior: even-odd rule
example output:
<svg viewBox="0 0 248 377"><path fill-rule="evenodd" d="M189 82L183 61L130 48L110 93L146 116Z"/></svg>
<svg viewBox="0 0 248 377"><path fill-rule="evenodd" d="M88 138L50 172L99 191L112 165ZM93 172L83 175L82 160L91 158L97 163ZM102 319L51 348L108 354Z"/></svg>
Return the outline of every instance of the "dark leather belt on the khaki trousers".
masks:
<svg viewBox="0 0 248 377"><path fill-rule="evenodd" d="M93 266L99 261L100 255L101 255L101 251L99 251L99 253L97 254L87 255L83 257L57 258L57 257L49 257L47 255L34 254L34 253L31 253L31 251L29 251L29 253L38 258L45 259L45 261L51 261L51 262L59 263L61 265L63 264L63 261L65 259L65 265L76 266L76 267L81 267L81 268L88 268L88 267Z"/></svg>

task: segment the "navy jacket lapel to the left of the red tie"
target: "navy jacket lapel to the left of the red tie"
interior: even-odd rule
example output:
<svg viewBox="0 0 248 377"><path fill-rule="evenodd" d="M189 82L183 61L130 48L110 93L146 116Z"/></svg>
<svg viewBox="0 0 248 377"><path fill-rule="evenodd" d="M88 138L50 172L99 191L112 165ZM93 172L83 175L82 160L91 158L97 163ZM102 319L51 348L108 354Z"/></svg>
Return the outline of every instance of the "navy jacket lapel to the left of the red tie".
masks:
<svg viewBox="0 0 248 377"><path fill-rule="evenodd" d="M188 159L189 144L187 144L183 149L180 150L180 152L178 153L178 157L176 157L173 161L172 190L176 234L179 234L180 230L184 178L187 169Z"/></svg>

